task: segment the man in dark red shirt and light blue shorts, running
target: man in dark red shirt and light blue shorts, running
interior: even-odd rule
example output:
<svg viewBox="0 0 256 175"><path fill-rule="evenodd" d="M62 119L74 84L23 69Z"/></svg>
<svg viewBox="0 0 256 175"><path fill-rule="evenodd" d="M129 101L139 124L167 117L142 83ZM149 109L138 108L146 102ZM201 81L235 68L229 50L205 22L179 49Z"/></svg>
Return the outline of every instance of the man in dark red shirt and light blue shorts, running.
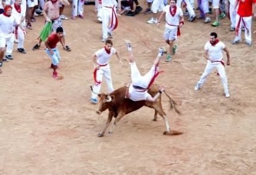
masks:
<svg viewBox="0 0 256 175"><path fill-rule="evenodd" d="M52 64L51 68L54 69L54 72L52 73L52 77L55 79L63 79L62 76L58 76L57 73L57 68L58 68L58 63L60 62L60 52L58 51L57 48L57 43L61 42L63 44L63 40L61 40L63 37L63 28L58 27L56 29L56 32L52 32L50 36L48 36L48 39L45 41L45 46L46 46L46 53L51 57L52 59Z"/></svg>

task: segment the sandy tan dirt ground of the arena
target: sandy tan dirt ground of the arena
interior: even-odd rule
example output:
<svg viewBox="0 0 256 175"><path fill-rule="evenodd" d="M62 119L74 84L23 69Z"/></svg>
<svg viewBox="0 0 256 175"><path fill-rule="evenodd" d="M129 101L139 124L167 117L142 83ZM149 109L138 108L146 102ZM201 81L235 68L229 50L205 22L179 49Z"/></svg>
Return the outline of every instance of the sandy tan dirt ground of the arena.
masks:
<svg viewBox="0 0 256 175"><path fill-rule="evenodd" d="M176 57L161 62L164 71L157 84L180 105L182 114L163 107L171 129L182 135L163 135L165 126L154 110L142 108L120 120L113 134L97 134L105 125L107 112L95 113L90 103L93 84L91 55L104 46L101 24L93 6L86 6L85 20L63 21L71 52L61 53L58 81L51 77L50 59L43 50L33 51L43 26L38 17L27 31L23 55L14 50L14 60L4 63L0 75L0 174L256 174L256 53L240 43L232 46L235 34L229 21L211 27L201 20L185 21ZM70 7L65 14L70 17ZM198 13L198 11L197 11ZM114 47L121 58L128 53L124 39L133 43L138 67L145 74L152 66L163 40L160 28L146 24L151 15L122 16L114 31ZM252 31L256 30L255 21ZM204 71L204 44L211 31L218 33L230 50L226 66L230 98L224 97L220 78L213 72L204 87L194 85ZM252 34L256 42L256 34ZM243 36L244 37L244 36ZM15 44L15 49L17 44ZM130 67L111 58L114 88L130 81ZM102 91L107 91L105 82Z"/></svg>

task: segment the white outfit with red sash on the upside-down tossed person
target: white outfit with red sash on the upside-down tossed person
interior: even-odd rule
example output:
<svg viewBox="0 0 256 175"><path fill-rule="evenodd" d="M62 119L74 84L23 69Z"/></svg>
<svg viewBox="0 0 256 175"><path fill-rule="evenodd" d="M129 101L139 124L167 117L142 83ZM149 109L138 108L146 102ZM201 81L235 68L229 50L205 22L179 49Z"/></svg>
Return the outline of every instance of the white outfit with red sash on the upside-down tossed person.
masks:
<svg viewBox="0 0 256 175"><path fill-rule="evenodd" d="M133 101L146 100L146 98L151 96L148 93L148 86L152 81L152 78L157 74L158 67L152 66L150 71L143 76L139 72L135 62L130 63L130 68L132 78L132 84L129 87L130 99Z"/></svg>

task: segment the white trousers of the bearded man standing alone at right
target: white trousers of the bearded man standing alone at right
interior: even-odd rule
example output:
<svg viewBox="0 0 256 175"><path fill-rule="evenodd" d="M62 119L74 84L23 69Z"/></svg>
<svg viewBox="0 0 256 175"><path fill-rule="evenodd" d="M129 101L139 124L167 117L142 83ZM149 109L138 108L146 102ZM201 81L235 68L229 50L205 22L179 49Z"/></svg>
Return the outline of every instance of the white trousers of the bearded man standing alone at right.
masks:
<svg viewBox="0 0 256 175"><path fill-rule="evenodd" d="M213 69L217 69L218 74L220 74L220 79L221 79L221 82L222 82L222 85L224 88L224 93L225 94L229 93L226 72L225 72L224 66L220 62L214 62L214 63L212 63L210 61L207 62L204 73L202 73L201 78L198 81L199 87L204 85L205 80L207 79L207 77L211 73L211 71L213 71Z"/></svg>

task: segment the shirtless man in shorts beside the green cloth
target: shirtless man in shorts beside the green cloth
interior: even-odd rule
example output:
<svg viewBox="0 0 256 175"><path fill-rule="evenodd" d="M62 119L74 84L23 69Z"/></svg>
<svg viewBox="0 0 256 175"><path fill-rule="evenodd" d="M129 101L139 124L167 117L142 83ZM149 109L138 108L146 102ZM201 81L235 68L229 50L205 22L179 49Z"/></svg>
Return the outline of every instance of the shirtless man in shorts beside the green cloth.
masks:
<svg viewBox="0 0 256 175"><path fill-rule="evenodd" d="M60 18L60 3L64 5L70 5L67 0L50 0L45 3L43 7L43 17L47 22L52 22L52 30L56 31L58 27L63 27ZM61 39L63 44L63 49L66 51L71 51L70 47L65 45L65 31L63 31L63 37ZM38 50L42 40L39 38L39 42L33 47L33 50Z"/></svg>

